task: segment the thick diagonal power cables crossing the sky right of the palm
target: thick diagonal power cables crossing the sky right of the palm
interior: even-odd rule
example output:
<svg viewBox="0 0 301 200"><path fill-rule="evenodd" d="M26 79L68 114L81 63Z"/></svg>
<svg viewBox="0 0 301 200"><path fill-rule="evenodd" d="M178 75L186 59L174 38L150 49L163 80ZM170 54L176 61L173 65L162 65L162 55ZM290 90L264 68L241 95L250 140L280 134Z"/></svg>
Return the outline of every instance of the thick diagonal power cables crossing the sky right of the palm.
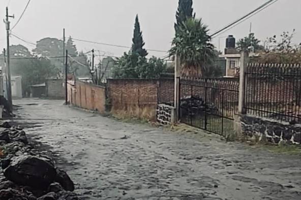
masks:
<svg viewBox="0 0 301 200"><path fill-rule="evenodd" d="M242 23L243 21L249 19L250 17L254 16L255 14L259 13L260 11L264 10L265 8L273 5L278 0L269 0L268 2L264 3L260 7L256 8L255 10L251 11L247 15L240 17L239 19L235 20L234 22L226 25L225 27L221 28L220 30L216 31L214 34L210 35L211 38L215 38L220 34L224 33L225 31L229 30L229 28L235 27L236 25ZM234 25L234 26L233 26Z"/></svg>

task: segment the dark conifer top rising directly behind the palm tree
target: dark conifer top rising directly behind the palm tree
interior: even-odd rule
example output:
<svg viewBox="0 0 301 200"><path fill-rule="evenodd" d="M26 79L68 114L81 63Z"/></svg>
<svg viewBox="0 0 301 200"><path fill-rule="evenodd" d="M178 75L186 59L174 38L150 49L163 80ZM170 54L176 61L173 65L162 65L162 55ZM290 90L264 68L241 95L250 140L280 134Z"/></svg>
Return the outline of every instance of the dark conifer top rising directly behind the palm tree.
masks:
<svg viewBox="0 0 301 200"><path fill-rule="evenodd" d="M193 14L192 0L179 0L178 8L176 11L176 23L174 24L174 30L177 33L178 27L185 22L188 18L195 18Z"/></svg>

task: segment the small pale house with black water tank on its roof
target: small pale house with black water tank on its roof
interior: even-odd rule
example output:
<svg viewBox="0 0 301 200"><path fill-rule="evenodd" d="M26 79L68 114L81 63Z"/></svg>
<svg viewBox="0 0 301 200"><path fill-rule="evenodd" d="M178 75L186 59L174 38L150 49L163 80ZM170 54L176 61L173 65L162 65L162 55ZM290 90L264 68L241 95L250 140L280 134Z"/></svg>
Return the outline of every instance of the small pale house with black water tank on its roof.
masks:
<svg viewBox="0 0 301 200"><path fill-rule="evenodd" d="M250 53L250 57L257 57L258 54ZM229 35L226 39L226 48L224 54L219 55L220 58L226 61L225 77L238 76L240 68L240 52L235 49L235 38Z"/></svg>

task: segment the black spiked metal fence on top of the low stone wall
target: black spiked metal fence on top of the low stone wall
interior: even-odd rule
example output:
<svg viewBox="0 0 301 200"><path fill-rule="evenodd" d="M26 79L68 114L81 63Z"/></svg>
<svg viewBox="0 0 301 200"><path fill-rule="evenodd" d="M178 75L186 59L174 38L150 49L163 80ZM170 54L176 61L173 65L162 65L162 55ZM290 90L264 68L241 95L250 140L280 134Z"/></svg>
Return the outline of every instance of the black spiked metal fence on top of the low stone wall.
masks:
<svg viewBox="0 0 301 200"><path fill-rule="evenodd" d="M249 64L244 81L248 114L301 122L300 65Z"/></svg>

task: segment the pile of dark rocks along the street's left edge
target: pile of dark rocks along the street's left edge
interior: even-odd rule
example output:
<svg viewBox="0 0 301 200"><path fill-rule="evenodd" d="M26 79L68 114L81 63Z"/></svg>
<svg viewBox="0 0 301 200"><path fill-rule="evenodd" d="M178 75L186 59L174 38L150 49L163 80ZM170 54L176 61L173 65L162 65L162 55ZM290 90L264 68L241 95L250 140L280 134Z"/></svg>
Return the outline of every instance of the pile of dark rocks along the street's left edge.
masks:
<svg viewBox="0 0 301 200"><path fill-rule="evenodd" d="M78 200L74 183L28 142L25 132L0 124L1 200Z"/></svg>

